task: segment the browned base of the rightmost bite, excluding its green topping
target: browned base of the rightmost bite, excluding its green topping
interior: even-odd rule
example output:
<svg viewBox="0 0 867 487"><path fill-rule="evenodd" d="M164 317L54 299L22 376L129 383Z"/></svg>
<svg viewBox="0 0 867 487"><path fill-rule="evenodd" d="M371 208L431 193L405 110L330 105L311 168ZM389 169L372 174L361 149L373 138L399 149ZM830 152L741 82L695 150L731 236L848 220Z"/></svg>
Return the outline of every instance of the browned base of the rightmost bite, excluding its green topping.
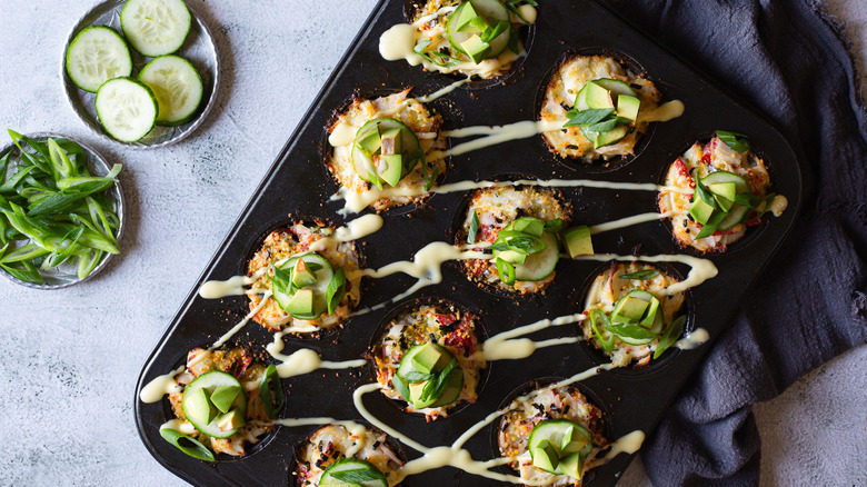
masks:
<svg viewBox="0 0 867 487"><path fill-rule="evenodd" d="M737 152L718 137L714 137L705 146L698 142L694 143L668 168L666 186L680 188L681 191L661 190L659 192L659 211L682 213L689 211L692 206L690 202L692 195L685 190L695 189L696 181L692 179L692 171L696 169L699 179L712 171L727 171L741 176L749 183L750 191L759 197L766 196L770 188L770 176L765 167L765 161L751 151ZM783 208L785 209L785 205ZM781 213L781 210L779 212ZM701 231L701 225L692 221L690 217L670 218L670 222L678 244L702 252L724 252L729 245L739 240L747 232L747 226L738 223L728 230L720 230L709 237L696 240L694 237Z"/></svg>

